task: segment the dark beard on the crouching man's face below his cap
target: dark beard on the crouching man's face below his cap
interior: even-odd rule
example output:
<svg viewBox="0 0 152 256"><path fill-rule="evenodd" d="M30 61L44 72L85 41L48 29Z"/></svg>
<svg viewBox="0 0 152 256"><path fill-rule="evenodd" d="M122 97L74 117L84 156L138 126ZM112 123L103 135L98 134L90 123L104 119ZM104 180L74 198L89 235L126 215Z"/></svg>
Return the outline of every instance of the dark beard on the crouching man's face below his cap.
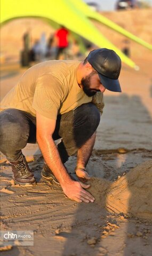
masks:
<svg viewBox="0 0 152 256"><path fill-rule="evenodd" d="M95 95L95 92L94 90L90 89L90 84L91 84L91 77L94 75L94 74L97 74L96 71L92 71L90 73L90 75L86 76L85 78L83 77L81 79L81 85L82 85L82 89L84 91L84 93L88 96L88 97L92 97L93 95Z"/></svg>

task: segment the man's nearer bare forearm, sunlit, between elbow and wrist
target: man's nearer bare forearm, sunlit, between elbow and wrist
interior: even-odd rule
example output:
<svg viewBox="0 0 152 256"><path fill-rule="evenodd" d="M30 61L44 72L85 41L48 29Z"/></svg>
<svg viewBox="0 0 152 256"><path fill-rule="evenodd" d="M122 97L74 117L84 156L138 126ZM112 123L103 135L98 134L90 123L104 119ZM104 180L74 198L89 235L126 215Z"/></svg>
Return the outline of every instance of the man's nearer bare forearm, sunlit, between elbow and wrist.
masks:
<svg viewBox="0 0 152 256"><path fill-rule="evenodd" d="M37 141L46 164L49 166L55 177L58 179L61 186L71 180L65 166L62 164L57 146L55 145L52 137L47 139L37 137Z"/></svg>

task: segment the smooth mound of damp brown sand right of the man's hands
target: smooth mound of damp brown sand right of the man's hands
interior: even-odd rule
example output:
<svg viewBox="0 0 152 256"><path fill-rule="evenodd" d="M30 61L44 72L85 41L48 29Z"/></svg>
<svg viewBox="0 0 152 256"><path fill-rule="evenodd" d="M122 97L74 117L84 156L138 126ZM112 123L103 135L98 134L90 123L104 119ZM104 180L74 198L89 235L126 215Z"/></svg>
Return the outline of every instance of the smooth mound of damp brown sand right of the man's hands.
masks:
<svg viewBox="0 0 152 256"><path fill-rule="evenodd" d="M152 161L138 165L114 182L92 178L88 190L95 202L110 212L152 220Z"/></svg>

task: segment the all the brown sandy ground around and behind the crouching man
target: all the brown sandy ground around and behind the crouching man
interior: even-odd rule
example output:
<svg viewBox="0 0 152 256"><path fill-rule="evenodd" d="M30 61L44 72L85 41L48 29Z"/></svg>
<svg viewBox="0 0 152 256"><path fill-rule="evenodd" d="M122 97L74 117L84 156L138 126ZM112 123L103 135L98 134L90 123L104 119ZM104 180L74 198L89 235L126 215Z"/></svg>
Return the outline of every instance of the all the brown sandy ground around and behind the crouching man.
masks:
<svg viewBox="0 0 152 256"><path fill-rule="evenodd" d="M150 12L146 10L138 15L145 27L144 33L135 12L126 12L130 24L125 23L125 12L113 13L111 17L119 23L123 15L122 25L134 25L134 33L150 43L151 28L148 30L147 23ZM23 22L12 22L10 30L9 24L6 27L7 33L3 28L2 44L8 58L2 65L1 98L26 70L9 55L10 47L22 47L21 38L11 32L12 28L26 31L33 21L27 21L25 30ZM39 21L37 27L42 26ZM49 27L43 28L49 33ZM39 30L34 31L36 38ZM14 54L15 51L16 48ZM123 93L105 92L106 105L87 165L87 172L92 176L90 191L95 196L94 203L73 202L62 193L60 186L41 177L43 157L37 145L27 145L23 150L37 180L34 187L14 185L11 167L2 155L1 229L34 230L34 246L7 246L2 255L151 256L152 54L133 43L132 58L140 70L123 65L120 76ZM72 175L75 164L75 156L66 163Z"/></svg>

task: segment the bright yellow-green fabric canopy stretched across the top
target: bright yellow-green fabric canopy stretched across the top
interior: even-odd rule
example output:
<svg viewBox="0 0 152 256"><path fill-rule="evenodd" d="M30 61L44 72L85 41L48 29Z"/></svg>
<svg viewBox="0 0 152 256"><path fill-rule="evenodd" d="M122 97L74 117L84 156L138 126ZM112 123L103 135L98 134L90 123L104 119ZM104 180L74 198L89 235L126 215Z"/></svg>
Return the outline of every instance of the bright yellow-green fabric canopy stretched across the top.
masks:
<svg viewBox="0 0 152 256"><path fill-rule="evenodd" d="M83 36L99 47L113 49L115 52L117 52L119 57L121 57L123 62L130 67L135 68L135 63L126 57L126 55L124 55L119 49L117 49L115 45L108 41L108 39L105 38L97 28L95 28L88 17L97 19L117 31L120 30L120 27L114 22L111 22L102 16L100 17L100 14L91 11L89 7L81 0L1 0L1 5L2 24L11 19L21 17L40 17L45 18L48 21L53 20L54 22L67 27L71 31L74 31L74 33ZM122 30L123 33L122 31L119 31L119 33L122 33L129 38L135 37L126 30ZM127 33L129 35L127 35ZM137 39L138 41L141 40L140 38L135 37L134 41L138 42ZM141 44L141 42L138 43ZM142 45L143 44L147 43L142 41Z"/></svg>

